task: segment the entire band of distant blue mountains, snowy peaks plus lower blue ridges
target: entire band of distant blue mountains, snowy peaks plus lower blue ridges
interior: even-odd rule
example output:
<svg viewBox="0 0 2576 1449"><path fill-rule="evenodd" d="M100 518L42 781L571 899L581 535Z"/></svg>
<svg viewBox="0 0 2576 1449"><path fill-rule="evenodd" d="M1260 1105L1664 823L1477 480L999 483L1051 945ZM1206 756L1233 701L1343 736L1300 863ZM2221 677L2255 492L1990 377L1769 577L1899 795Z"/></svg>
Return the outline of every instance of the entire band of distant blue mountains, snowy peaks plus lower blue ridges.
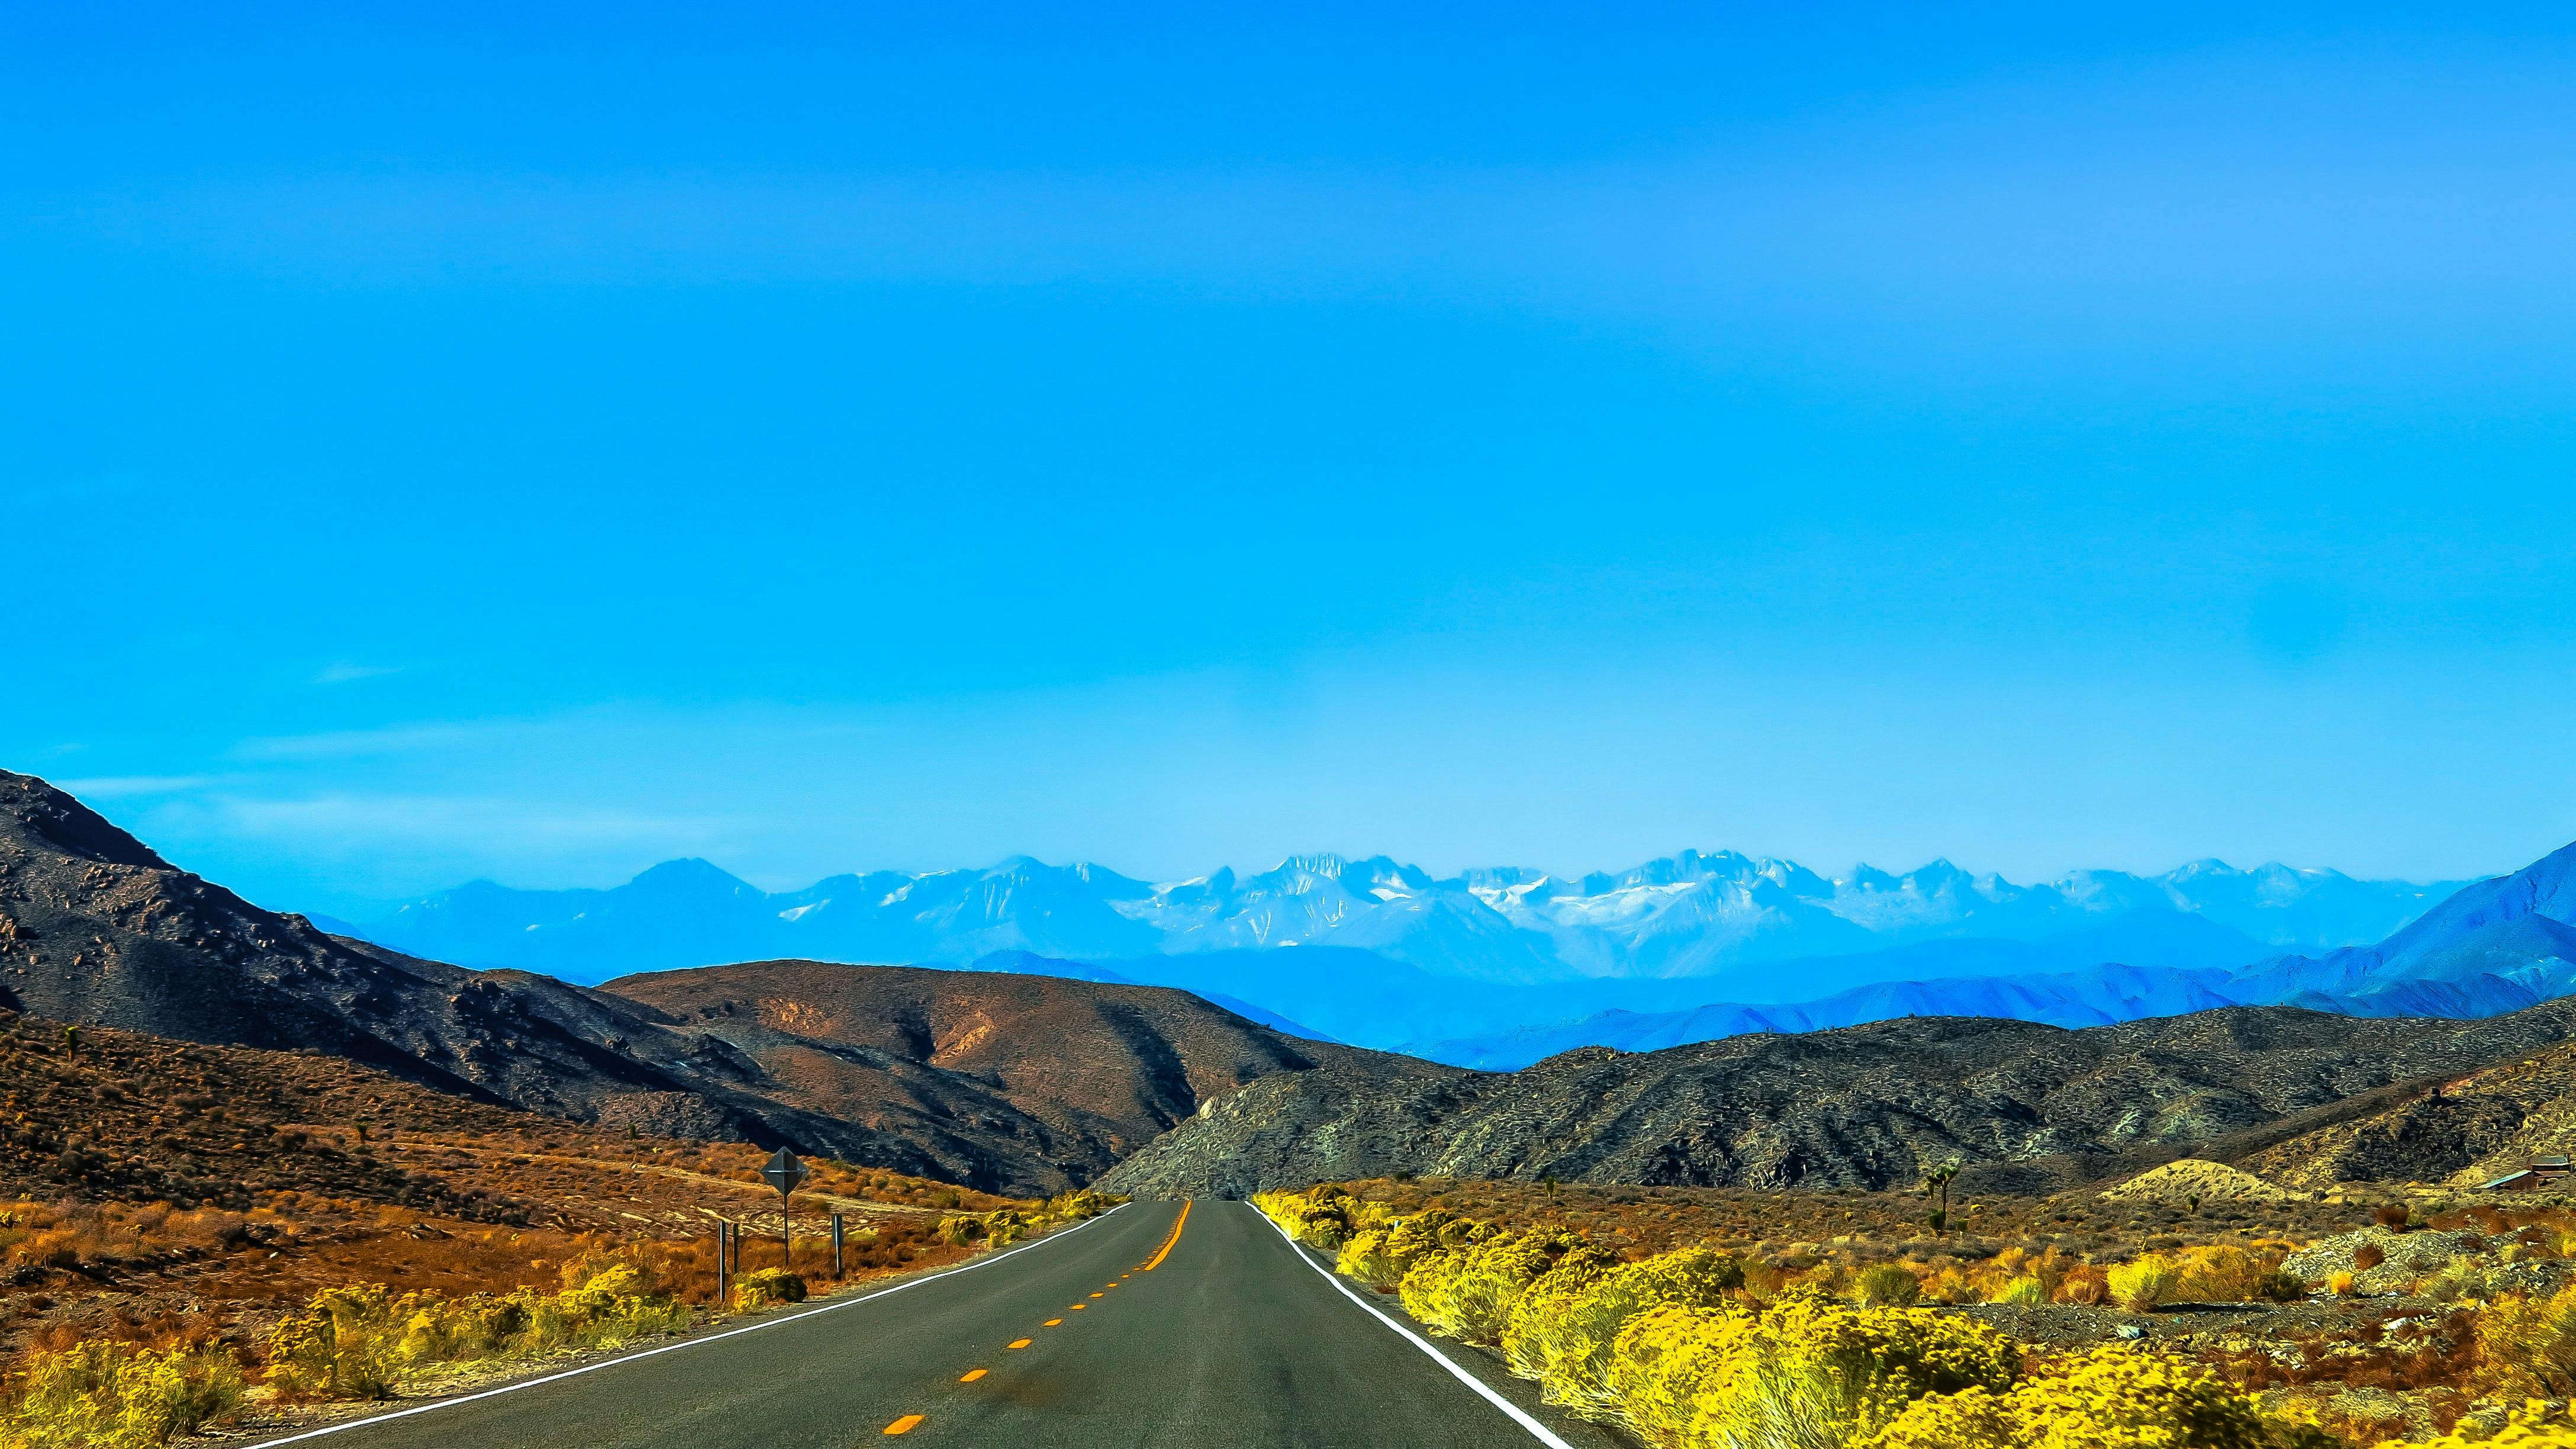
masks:
<svg viewBox="0 0 2576 1449"><path fill-rule="evenodd" d="M1909 1013L2514 1011L2576 982L2566 856L2465 890L2218 861L2022 887L1682 851L1577 879L1293 856L1170 884L1015 856L762 892L667 861L611 890L474 882L345 931L577 982L811 957L1172 985L1298 1036L1507 1067Z"/></svg>

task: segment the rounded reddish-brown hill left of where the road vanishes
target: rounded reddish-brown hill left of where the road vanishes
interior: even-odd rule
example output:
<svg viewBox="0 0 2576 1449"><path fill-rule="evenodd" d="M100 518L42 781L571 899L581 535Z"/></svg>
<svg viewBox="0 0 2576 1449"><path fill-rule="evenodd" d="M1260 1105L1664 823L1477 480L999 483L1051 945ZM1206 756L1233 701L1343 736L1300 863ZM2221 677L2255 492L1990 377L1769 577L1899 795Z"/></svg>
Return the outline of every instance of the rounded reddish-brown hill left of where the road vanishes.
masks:
<svg viewBox="0 0 2576 1449"><path fill-rule="evenodd" d="M1180 990L1064 977L750 962L603 993L750 1057L773 1101L917 1142L971 1183L994 1176L989 1163L1059 1168L1030 1186L1090 1181L1265 1075L1437 1073L1283 1036Z"/></svg>

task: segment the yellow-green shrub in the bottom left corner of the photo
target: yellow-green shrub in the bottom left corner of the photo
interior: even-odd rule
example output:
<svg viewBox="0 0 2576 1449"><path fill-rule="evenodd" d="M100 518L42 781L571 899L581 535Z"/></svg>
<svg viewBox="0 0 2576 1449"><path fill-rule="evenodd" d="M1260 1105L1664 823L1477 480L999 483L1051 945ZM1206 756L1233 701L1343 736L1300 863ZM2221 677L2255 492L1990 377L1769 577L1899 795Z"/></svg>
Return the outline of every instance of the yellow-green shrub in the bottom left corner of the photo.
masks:
<svg viewBox="0 0 2576 1449"><path fill-rule="evenodd" d="M242 1369L222 1348L80 1343L28 1361L0 1449L155 1449L240 1397Z"/></svg>

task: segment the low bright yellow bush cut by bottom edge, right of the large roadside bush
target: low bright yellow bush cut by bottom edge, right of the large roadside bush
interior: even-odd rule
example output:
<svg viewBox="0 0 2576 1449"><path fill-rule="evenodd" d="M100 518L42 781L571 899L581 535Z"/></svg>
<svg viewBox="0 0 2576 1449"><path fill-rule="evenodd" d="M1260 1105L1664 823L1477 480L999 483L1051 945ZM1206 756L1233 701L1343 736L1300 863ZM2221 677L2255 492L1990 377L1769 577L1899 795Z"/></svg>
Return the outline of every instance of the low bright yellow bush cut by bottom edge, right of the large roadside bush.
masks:
<svg viewBox="0 0 2576 1449"><path fill-rule="evenodd" d="M1973 1385L1914 1400L1857 1449L2329 1449L2226 1379L2138 1348L2097 1348L2007 1392Z"/></svg>

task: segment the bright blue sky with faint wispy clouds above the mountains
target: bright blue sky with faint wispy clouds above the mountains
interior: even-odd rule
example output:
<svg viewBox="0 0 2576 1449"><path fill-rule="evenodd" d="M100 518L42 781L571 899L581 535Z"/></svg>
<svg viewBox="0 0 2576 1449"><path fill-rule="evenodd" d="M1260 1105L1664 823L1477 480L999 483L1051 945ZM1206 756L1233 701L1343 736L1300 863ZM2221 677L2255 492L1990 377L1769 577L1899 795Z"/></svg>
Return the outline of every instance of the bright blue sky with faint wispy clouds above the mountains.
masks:
<svg viewBox="0 0 2576 1449"><path fill-rule="evenodd" d="M2563 8L335 10L0 18L0 763L260 900L2576 838Z"/></svg>

